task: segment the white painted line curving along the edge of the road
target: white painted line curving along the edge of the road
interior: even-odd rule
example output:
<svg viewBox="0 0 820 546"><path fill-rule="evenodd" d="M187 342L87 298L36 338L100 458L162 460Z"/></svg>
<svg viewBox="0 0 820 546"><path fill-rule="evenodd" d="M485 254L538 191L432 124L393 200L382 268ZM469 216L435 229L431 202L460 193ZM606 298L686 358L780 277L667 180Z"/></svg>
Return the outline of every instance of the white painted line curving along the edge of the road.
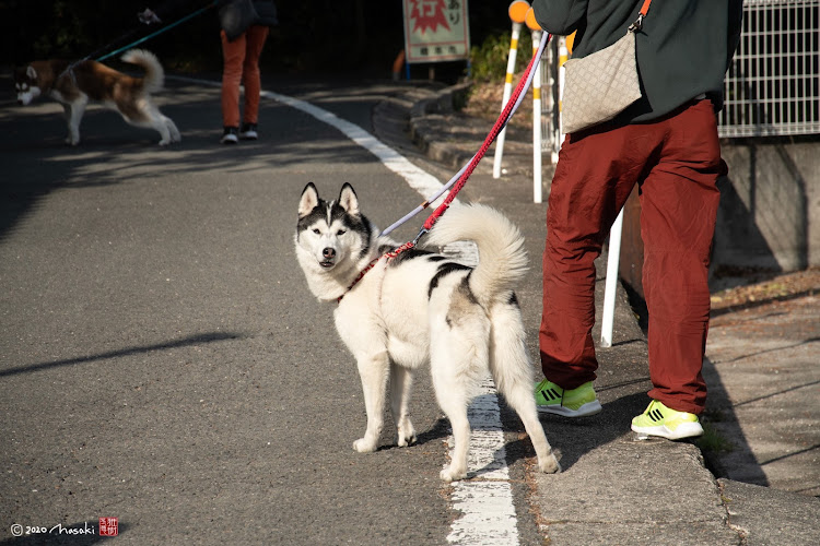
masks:
<svg viewBox="0 0 820 546"><path fill-rule="evenodd" d="M219 82L166 76L179 81L219 86ZM424 199L435 193L442 182L417 167L405 156L384 144L361 127L345 121L298 98L262 91L271 98L328 123L364 147L390 170L403 178ZM442 195L443 199L444 195ZM478 252L472 246L458 245L453 249L468 262L478 263ZM504 451L504 432L499 410L499 396L492 379L488 376L481 384L481 394L468 410L472 439L470 442L469 480L452 486L450 502L461 515L453 522L447 542L459 546L513 546L518 544L518 525L509 484L509 470ZM448 438L453 444L453 437Z"/></svg>

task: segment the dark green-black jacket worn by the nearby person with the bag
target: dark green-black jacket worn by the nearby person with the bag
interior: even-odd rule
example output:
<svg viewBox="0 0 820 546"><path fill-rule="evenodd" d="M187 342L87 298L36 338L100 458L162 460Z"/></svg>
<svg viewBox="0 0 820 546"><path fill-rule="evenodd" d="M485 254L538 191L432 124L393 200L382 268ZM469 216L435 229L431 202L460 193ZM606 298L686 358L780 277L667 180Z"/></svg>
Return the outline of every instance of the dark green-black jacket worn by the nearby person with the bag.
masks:
<svg viewBox="0 0 820 546"><path fill-rule="evenodd" d="M626 34L643 0L532 0L541 28L577 31L573 58ZM643 97L616 121L649 121L705 94L723 107L723 81L740 38L742 0L655 0L635 36Z"/></svg>

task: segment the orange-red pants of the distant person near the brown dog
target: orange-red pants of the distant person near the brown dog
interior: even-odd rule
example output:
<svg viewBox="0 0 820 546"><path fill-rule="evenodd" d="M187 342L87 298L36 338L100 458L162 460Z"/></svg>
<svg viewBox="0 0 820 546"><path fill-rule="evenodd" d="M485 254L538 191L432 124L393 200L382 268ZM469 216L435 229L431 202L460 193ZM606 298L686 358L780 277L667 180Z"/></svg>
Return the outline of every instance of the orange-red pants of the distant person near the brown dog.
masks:
<svg viewBox="0 0 820 546"><path fill-rule="evenodd" d="M259 117L259 56L270 28L254 25L233 41L222 31L222 126L239 127L239 83L245 85L243 121L256 123Z"/></svg>

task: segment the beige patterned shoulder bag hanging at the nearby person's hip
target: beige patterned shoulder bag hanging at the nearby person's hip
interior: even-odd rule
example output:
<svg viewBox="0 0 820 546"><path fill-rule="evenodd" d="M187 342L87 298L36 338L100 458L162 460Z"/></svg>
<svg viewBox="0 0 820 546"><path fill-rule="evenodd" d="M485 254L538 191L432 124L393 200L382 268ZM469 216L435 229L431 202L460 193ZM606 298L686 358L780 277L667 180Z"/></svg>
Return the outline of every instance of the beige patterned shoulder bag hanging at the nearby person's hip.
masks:
<svg viewBox="0 0 820 546"><path fill-rule="evenodd" d="M608 121L641 98L635 59L635 33L643 27L652 0L644 0L626 35L611 46L564 63L561 105L565 133Z"/></svg>

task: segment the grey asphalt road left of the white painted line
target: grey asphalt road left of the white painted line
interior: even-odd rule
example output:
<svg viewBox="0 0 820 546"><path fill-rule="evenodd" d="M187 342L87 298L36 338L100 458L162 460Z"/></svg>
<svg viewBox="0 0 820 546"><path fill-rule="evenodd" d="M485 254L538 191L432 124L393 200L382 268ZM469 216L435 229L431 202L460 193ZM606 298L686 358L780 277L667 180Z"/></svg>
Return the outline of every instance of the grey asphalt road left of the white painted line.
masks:
<svg viewBox="0 0 820 546"><path fill-rule="evenodd" d="M181 143L90 108L70 147L59 105L17 107L0 78L0 544L93 544L11 525L103 517L131 544L445 543L448 426L429 380L419 443L396 449L388 428L355 453L355 366L293 252L308 181L353 183L383 226L419 195L276 102L258 142L220 145L219 91L167 87ZM371 130L387 87L274 91Z"/></svg>

